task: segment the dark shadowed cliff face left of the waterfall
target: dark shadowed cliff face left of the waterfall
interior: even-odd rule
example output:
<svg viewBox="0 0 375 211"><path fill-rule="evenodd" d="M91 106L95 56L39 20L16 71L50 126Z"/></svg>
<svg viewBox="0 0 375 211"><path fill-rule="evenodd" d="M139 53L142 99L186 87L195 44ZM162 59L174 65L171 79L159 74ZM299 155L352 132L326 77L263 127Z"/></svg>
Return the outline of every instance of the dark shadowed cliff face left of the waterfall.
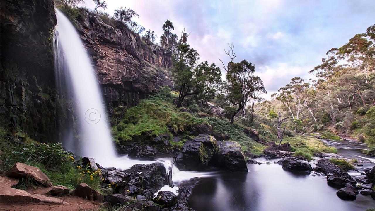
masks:
<svg viewBox="0 0 375 211"><path fill-rule="evenodd" d="M53 0L2 0L0 114L2 128L36 140L57 136Z"/></svg>

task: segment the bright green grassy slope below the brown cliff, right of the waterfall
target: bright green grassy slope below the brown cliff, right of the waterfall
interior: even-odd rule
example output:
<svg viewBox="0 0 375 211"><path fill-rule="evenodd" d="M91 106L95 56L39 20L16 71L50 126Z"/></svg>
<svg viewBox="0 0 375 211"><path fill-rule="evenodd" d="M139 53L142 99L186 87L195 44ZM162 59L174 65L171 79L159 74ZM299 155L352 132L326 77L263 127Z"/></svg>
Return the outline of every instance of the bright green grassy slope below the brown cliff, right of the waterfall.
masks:
<svg viewBox="0 0 375 211"><path fill-rule="evenodd" d="M137 136L173 135L203 123L200 118L178 111L171 101L165 95L151 96L135 107L123 110L123 119L113 127L115 139L127 142Z"/></svg>

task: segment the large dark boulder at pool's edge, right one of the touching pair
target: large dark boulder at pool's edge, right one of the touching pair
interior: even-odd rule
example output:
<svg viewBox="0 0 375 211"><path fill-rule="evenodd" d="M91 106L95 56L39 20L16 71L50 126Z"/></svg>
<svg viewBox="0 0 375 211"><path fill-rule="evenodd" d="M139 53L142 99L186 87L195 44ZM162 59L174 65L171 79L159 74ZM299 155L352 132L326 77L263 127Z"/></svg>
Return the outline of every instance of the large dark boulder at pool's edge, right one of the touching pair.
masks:
<svg viewBox="0 0 375 211"><path fill-rule="evenodd" d="M216 150L211 163L233 172L248 172L240 144L232 141L216 142Z"/></svg>

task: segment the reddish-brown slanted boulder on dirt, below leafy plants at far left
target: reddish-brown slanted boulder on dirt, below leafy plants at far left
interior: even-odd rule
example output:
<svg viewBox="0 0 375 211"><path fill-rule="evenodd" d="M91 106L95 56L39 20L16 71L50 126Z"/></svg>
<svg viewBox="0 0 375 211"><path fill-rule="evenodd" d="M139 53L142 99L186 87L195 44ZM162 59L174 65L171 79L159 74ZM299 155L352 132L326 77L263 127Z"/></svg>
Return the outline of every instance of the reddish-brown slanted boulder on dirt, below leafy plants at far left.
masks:
<svg viewBox="0 0 375 211"><path fill-rule="evenodd" d="M46 187L52 187L52 183L48 176L43 173L38 167L29 166L23 163L16 163L10 168L4 176L9 176L17 179L32 179Z"/></svg>

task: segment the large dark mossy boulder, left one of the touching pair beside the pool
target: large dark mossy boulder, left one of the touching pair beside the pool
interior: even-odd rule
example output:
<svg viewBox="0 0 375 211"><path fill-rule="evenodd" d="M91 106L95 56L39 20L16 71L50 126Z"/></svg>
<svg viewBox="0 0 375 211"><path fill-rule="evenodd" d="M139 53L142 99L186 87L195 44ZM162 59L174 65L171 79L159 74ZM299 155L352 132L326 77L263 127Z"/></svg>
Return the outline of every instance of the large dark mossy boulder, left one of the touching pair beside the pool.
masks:
<svg viewBox="0 0 375 211"><path fill-rule="evenodd" d="M175 163L182 170L203 170L208 166L215 151L216 139L207 134L199 134L187 140L177 154Z"/></svg>

